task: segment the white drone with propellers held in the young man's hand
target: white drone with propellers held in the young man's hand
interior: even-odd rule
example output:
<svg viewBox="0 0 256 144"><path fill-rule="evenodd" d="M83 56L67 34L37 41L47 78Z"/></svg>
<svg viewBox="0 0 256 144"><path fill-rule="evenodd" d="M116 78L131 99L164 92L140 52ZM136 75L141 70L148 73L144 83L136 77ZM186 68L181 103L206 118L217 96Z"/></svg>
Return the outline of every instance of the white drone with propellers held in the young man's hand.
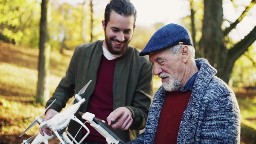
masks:
<svg viewBox="0 0 256 144"><path fill-rule="evenodd" d="M73 106L66 108L63 112L60 112L57 115L54 115L51 119L44 121L43 118L41 118L41 116L54 103L54 101L55 101L54 100L52 102L52 104L49 105L49 107L47 107L47 109L45 109L45 111L41 113L41 115L35 117L35 120L29 125L29 127L20 136L22 136L24 133L26 133L30 128L34 127L36 125L36 123L38 123L40 125L40 127L49 128L49 130L51 130L53 132L52 135L49 136L47 134L44 134L44 136L43 136L40 133L38 133L37 135L34 135L27 140L23 140L22 144L30 144L29 142L34 138L35 139L32 141L31 144L41 144L42 142L44 142L44 144L49 144L48 140L52 139L52 138L56 138L56 137L58 137L61 144L73 144L73 141L76 144L81 144L84 141L84 139L87 137L87 135L89 135L90 130L84 125L84 123L82 123L78 118L76 118L76 116L74 114L79 109L81 104L84 103L85 99L81 98L80 95L85 92L85 90L87 89L90 82L91 82L91 80L78 92L78 94L75 95L75 98L73 99L73 101L76 99L78 101L76 104L73 104ZM73 101L71 101L70 104ZM78 122L79 124L81 124L81 126L87 130L86 135L84 135L84 137L79 142L77 142L75 140L75 138L73 138L73 136L66 130L71 119ZM64 134L63 132L66 132L67 135L69 135L70 138L73 139L73 141L71 141L68 138L68 136L66 134Z"/></svg>

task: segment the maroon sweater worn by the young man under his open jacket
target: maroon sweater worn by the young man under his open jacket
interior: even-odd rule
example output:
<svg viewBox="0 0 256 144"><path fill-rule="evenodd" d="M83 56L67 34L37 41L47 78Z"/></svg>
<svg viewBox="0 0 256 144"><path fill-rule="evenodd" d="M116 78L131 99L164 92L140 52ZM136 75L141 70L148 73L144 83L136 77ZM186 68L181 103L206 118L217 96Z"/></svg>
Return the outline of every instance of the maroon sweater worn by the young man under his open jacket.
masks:
<svg viewBox="0 0 256 144"><path fill-rule="evenodd" d="M118 58L108 60L102 55L97 81L93 94L90 97L87 112L93 113L96 118L107 121L108 115L113 111L113 78L116 61ZM85 138L85 142L107 143L106 139L89 123L85 124L90 130L90 134ZM87 130L83 129L83 135Z"/></svg>

